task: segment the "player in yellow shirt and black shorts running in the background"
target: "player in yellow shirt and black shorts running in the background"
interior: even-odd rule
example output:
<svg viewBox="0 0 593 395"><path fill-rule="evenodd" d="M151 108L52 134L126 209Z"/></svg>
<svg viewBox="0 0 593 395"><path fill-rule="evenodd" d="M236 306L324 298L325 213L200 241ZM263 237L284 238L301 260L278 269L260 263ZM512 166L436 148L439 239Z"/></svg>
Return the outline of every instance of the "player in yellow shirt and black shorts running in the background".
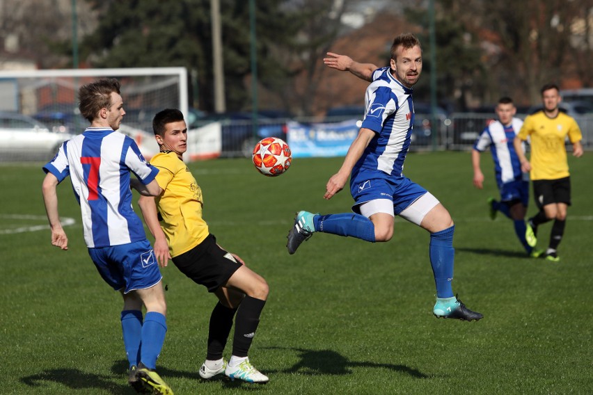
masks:
<svg viewBox="0 0 593 395"><path fill-rule="evenodd" d="M573 155L583 155L578 124L574 118L559 110L560 89L554 84L541 88L541 100L544 108L529 115L523 127L515 137L514 146L521 161L521 169L530 172L533 182L533 195L539 212L529 218L525 238L529 245L537 243L537 227L554 220L550 243L546 250L546 259L560 261L558 245L564 235L567 208L571 204L570 173L567 150L564 141L567 136L572 143ZM521 141L530 138L530 160L521 151Z"/></svg>

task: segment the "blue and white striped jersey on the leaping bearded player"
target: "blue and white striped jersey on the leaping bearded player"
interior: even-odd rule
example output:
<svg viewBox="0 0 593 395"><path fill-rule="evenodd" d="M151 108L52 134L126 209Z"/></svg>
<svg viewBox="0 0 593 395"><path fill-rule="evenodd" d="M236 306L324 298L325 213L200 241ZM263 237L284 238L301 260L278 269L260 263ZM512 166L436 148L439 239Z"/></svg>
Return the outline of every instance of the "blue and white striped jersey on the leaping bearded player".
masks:
<svg viewBox="0 0 593 395"><path fill-rule="evenodd" d="M354 166L353 174L360 170L381 170L400 177L414 122L412 90L397 81L389 67L375 70L372 79L365 94L366 114L362 127L377 135Z"/></svg>

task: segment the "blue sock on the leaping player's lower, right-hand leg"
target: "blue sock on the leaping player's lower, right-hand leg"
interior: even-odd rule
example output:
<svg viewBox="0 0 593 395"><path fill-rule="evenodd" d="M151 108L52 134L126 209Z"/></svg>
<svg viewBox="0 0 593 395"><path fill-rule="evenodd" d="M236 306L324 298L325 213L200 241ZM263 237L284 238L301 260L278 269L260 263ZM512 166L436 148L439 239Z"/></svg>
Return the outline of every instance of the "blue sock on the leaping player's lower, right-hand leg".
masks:
<svg viewBox="0 0 593 395"><path fill-rule="evenodd" d="M455 250L453 248L453 232L455 226L430 234L430 264L436 284L437 298L452 298L453 289L453 261Z"/></svg>

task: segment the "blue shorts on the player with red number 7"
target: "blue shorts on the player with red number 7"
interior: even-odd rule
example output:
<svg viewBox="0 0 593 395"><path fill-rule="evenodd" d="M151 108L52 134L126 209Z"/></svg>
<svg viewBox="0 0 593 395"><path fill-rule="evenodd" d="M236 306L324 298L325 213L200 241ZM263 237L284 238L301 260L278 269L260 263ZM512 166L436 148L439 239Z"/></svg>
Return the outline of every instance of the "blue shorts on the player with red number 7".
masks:
<svg viewBox="0 0 593 395"><path fill-rule="evenodd" d="M103 280L116 291L147 289L161 281L159 264L148 240L89 248L88 255Z"/></svg>

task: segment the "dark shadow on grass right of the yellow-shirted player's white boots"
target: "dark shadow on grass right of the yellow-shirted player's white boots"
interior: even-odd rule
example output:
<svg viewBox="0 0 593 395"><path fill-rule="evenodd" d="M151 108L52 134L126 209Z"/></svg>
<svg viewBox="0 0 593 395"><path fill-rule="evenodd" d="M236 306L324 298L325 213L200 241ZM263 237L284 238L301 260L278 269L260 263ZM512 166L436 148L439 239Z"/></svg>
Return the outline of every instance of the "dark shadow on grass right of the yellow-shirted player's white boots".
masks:
<svg viewBox="0 0 593 395"><path fill-rule="evenodd" d="M305 348L283 348L283 347L267 347L269 349L277 350L294 350L299 353L299 362L294 364L289 369L283 369L278 373L301 373L311 376L317 375L347 375L351 374L351 368L385 368L398 373L404 373L413 378L429 378L425 373L417 369L410 368L406 365L396 364L381 364L377 362L356 362L350 361L340 353L332 350L307 350ZM272 372L270 372L272 373Z"/></svg>

